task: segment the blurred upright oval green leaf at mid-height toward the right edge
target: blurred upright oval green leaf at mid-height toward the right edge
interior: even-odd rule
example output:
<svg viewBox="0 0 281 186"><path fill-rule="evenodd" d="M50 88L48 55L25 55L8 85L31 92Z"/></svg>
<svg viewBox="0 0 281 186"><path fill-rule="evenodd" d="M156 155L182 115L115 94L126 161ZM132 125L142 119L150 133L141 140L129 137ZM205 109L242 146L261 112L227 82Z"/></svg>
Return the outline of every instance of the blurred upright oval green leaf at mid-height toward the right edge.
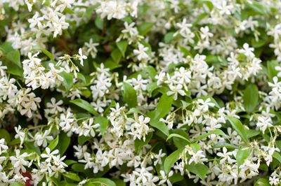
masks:
<svg viewBox="0 0 281 186"><path fill-rule="evenodd" d="M248 113L254 111L254 108L258 105L259 101L259 89L254 84L250 84L246 87L243 96L244 108Z"/></svg>

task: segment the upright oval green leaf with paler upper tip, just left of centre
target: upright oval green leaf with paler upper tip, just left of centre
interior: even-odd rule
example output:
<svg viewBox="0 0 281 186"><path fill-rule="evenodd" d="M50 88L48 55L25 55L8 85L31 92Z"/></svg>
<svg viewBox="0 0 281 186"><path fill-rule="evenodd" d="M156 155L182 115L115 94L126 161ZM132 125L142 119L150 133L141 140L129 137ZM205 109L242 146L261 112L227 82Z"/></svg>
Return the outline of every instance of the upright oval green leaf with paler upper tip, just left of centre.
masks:
<svg viewBox="0 0 281 186"><path fill-rule="evenodd" d="M123 82L123 90L124 90L124 101L128 104L130 108L137 106L137 96L136 90L126 82Z"/></svg>

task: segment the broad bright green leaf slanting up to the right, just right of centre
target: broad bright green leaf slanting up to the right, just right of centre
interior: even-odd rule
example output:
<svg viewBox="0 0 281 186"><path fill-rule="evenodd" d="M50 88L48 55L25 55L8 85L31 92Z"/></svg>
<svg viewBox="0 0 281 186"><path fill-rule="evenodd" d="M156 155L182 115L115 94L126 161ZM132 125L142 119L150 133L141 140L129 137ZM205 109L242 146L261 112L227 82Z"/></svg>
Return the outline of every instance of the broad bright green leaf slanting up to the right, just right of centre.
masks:
<svg viewBox="0 0 281 186"><path fill-rule="evenodd" d="M163 94L159 100L157 108L147 113L151 120L159 120L167 115L171 110L171 103L173 103L173 95L167 96Z"/></svg>

